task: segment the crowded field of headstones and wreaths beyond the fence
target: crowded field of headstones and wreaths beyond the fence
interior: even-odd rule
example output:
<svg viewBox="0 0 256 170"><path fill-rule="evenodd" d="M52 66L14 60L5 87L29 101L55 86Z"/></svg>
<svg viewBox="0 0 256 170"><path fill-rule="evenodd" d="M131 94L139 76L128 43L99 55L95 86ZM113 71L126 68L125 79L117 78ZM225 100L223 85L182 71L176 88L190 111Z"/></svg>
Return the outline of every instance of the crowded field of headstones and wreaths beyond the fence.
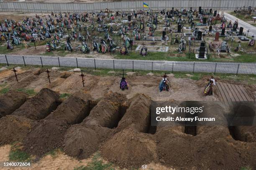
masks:
<svg viewBox="0 0 256 170"><path fill-rule="evenodd" d="M229 53L229 37L249 41L253 46L254 39L248 39L248 32L238 27L238 21L227 21L217 10L202 7L115 13L106 9L91 13L51 13L45 17L35 15L21 21L5 19L0 26L0 40L10 50L25 40L46 41L47 52L62 49L111 54L118 50L128 55L135 50L146 57L150 55L148 52L176 51L207 59L209 52ZM225 41L219 37L225 37Z"/></svg>

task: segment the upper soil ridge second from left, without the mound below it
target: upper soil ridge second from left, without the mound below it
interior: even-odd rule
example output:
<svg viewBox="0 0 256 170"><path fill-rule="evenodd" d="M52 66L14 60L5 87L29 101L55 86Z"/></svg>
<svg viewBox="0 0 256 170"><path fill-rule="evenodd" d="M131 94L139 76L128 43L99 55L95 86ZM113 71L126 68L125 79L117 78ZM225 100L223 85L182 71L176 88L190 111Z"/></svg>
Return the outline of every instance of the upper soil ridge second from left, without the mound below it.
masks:
<svg viewBox="0 0 256 170"><path fill-rule="evenodd" d="M24 116L32 120L40 120L49 115L59 105L59 94L43 88L34 97L27 100L13 115Z"/></svg>

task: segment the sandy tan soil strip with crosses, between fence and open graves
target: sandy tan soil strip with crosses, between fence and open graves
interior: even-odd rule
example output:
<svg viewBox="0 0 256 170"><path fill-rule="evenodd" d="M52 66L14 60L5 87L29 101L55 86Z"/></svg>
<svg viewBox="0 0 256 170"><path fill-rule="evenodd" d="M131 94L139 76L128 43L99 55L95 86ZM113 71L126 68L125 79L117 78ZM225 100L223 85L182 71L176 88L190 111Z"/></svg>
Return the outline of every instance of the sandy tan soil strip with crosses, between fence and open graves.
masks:
<svg viewBox="0 0 256 170"><path fill-rule="evenodd" d="M10 88L15 89L23 87L26 89L34 89L36 92L39 92L44 87L50 88L56 92L71 94L82 89L88 91L95 99L102 97L102 95L111 90L126 95L128 99L140 92L148 95L153 100L219 100L217 95L203 96L204 87L196 85L195 80L171 77L173 75L169 77L172 85L172 89L169 90L169 92L159 92L158 85L161 81L161 77L154 75L128 75L126 80L129 82L130 87L128 90L122 91L119 88L119 75L100 77L86 74L85 87L82 87L81 77L79 76L81 73L72 72L69 77L61 78L63 72L50 70L51 84L49 84L46 72L42 71L40 75L31 76L33 70L34 69L18 71L18 79L20 80L18 83L15 81L11 70L1 72L0 84L7 82ZM26 82L24 82L25 80Z"/></svg>

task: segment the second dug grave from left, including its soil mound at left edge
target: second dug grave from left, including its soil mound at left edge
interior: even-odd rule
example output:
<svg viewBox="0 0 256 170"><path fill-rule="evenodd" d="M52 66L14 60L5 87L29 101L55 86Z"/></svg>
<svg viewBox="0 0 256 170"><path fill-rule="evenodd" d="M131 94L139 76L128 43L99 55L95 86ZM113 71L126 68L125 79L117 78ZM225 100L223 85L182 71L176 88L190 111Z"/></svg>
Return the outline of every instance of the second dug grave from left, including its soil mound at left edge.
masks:
<svg viewBox="0 0 256 170"><path fill-rule="evenodd" d="M22 141L35 124L32 120L39 120L49 115L58 105L58 100L59 95L56 92L42 89L11 115L2 117L0 119L0 145L16 140Z"/></svg>

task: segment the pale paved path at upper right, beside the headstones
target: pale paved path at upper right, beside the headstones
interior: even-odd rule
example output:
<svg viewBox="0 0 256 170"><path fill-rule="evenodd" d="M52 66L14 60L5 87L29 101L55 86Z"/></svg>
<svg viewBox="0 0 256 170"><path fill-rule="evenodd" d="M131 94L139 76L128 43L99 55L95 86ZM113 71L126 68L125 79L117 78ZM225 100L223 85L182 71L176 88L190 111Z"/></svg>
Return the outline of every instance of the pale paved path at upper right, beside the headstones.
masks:
<svg viewBox="0 0 256 170"><path fill-rule="evenodd" d="M256 27L254 27L251 24L248 24L246 22L244 22L243 20L240 20L238 18L236 18L233 15L230 15L228 13L224 13L225 18L227 19L227 21L229 22L229 20L232 21L232 23L234 23L236 20L238 20L238 27L243 27L243 33L245 33L247 35L247 30L250 29L249 32L249 36L255 35L256 36Z"/></svg>

